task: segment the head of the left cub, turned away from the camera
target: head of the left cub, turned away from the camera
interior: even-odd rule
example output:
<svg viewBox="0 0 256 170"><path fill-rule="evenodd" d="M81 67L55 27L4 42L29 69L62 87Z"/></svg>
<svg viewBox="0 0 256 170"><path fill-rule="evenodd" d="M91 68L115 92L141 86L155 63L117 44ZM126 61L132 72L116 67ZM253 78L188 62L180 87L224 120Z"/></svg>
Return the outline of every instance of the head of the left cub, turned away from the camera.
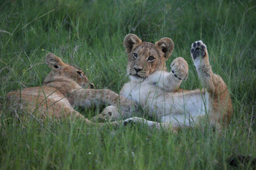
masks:
<svg viewBox="0 0 256 170"><path fill-rule="evenodd" d="M65 64L60 57L53 55L53 53L48 53L46 55L46 64L48 64L48 67L50 67L52 71L43 81L44 84L56 80L61 81L61 79L71 79L76 81L77 84L84 88L94 89L95 87L94 84L90 83L89 79L85 76L85 73L82 72L82 70L77 69L70 64Z"/></svg>

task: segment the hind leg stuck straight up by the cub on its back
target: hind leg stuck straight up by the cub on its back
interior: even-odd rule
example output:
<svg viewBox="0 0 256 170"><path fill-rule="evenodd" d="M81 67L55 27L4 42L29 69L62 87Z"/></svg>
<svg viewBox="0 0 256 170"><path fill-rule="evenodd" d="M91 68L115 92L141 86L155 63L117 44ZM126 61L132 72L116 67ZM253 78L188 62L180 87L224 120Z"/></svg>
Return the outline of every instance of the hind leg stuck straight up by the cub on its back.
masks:
<svg viewBox="0 0 256 170"><path fill-rule="evenodd" d="M193 42L191 45L191 57L196 66L198 77L201 84L210 94L210 103L213 107L213 113L210 115L210 121L215 125L225 125L229 122L233 114L233 107L230 95L228 94L228 86L223 79L213 74L208 58L206 45L201 41Z"/></svg>

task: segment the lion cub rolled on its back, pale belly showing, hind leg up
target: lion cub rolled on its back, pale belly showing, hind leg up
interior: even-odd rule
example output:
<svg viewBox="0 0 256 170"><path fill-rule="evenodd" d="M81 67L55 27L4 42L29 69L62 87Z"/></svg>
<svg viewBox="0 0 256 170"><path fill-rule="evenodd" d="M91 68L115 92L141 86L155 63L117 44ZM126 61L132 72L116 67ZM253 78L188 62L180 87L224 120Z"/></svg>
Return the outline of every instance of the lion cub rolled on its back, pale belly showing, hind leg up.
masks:
<svg viewBox="0 0 256 170"><path fill-rule="evenodd" d="M233 107L228 87L220 76L213 74L206 45L201 40L193 42L191 57L203 90L178 89L188 77L188 64L182 57L171 63L171 72L166 72L166 60L174 50L174 42L170 38L162 38L152 44L129 34L124 38L124 47L128 53L127 74L131 81L124 84L120 95L136 101L146 115L162 123L131 118L133 115L130 113L114 111L112 119L129 118L124 121L144 122L156 128L171 126L174 130L193 126L203 117L218 127L229 122Z"/></svg>

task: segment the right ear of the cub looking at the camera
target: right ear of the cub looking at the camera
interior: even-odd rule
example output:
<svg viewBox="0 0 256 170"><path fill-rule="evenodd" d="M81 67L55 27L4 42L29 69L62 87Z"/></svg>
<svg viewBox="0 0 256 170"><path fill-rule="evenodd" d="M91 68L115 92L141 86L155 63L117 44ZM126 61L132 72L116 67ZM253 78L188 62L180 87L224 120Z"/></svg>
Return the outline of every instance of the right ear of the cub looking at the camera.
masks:
<svg viewBox="0 0 256 170"><path fill-rule="evenodd" d="M164 52L164 57L168 59L171 53L174 51L174 42L171 38L161 38L161 40L156 42L156 46L159 46Z"/></svg>

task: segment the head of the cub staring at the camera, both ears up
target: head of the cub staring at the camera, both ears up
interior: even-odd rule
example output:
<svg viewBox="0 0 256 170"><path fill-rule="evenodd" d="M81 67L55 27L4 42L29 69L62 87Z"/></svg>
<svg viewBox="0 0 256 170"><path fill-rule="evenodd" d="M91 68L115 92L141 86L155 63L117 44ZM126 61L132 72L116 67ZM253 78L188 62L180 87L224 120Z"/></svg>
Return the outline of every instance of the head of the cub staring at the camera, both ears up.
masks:
<svg viewBox="0 0 256 170"><path fill-rule="evenodd" d="M174 42L171 38L161 38L153 44L128 34L124 38L124 47L128 53L127 73L131 79L139 80L158 70L166 70L165 63L174 51Z"/></svg>

